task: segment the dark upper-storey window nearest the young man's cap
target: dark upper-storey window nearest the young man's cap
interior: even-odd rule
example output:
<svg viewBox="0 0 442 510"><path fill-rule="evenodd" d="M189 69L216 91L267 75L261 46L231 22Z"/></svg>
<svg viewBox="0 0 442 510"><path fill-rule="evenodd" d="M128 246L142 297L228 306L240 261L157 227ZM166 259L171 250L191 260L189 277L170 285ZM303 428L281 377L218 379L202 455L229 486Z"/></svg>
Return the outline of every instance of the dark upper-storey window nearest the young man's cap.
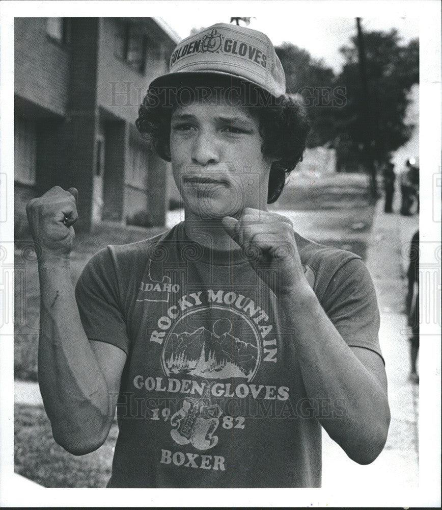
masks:
<svg viewBox="0 0 442 510"><path fill-rule="evenodd" d="M120 21L115 38L114 55L143 73L146 66L147 36L133 23Z"/></svg>

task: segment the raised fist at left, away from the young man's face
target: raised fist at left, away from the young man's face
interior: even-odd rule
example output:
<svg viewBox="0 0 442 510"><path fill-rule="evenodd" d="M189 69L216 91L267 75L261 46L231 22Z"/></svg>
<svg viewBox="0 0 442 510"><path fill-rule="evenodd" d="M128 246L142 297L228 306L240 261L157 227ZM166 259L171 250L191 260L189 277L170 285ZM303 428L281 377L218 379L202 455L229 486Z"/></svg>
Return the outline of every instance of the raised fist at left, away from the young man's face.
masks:
<svg viewBox="0 0 442 510"><path fill-rule="evenodd" d="M26 214L32 237L40 245L43 256L66 256L72 250L75 237L72 225L78 219L77 198L75 188L65 191L54 186L27 203Z"/></svg>

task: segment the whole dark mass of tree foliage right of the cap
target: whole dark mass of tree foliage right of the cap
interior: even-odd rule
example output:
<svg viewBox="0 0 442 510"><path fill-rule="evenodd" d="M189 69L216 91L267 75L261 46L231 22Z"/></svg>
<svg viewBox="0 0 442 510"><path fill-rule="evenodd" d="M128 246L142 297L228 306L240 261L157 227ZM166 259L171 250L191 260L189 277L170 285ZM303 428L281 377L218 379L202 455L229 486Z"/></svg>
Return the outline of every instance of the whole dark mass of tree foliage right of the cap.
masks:
<svg viewBox="0 0 442 510"><path fill-rule="evenodd" d="M369 132L379 163L410 137L412 126L404 123L407 94L419 83L419 41L400 44L398 32L365 32L364 45L369 92ZM312 123L308 145L332 144L342 166L361 161L366 137L361 70L357 36L341 48L345 59L339 75L321 60L291 43L275 48L286 73L287 92L302 96Z"/></svg>

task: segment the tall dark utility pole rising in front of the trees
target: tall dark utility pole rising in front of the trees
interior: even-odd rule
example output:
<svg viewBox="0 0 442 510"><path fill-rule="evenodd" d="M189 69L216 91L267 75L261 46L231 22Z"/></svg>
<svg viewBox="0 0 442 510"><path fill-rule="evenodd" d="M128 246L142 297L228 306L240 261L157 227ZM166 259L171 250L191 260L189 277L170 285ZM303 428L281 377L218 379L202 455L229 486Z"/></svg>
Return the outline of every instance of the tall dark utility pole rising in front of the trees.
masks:
<svg viewBox="0 0 442 510"><path fill-rule="evenodd" d="M370 108L370 93L368 90L368 77L367 77L367 58L364 46L364 37L361 28L361 18L356 18L357 28L357 49L359 56L359 70L361 74L361 120L364 133L364 156L365 164L371 175L371 193L373 198L377 196L377 181L376 181L376 167L374 165L373 157L373 122L371 117Z"/></svg>

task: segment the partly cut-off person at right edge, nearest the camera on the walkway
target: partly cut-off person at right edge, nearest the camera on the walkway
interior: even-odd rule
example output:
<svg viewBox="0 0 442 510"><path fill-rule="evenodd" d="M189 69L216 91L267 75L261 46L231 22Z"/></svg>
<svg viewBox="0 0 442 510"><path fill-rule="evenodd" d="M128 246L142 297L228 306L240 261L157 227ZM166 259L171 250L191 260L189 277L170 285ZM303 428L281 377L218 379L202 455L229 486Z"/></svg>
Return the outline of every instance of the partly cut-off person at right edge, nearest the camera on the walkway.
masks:
<svg viewBox="0 0 442 510"><path fill-rule="evenodd" d="M409 265L407 271L408 292L406 309L408 325L411 326L410 341L410 380L419 383L417 360L419 352L419 230L411 238L409 250Z"/></svg>

